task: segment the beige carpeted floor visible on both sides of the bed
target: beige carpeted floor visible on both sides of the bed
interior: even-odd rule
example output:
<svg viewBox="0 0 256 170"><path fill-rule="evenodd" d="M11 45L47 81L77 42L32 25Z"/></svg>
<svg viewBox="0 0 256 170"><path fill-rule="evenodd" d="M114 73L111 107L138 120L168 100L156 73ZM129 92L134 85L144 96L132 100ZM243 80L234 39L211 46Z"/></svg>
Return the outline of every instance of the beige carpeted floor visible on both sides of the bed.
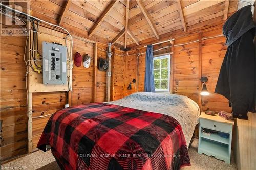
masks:
<svg viewBox="0 0 256 170"><path fill-rule="evenodd" d="M234 163L233 157L231 164L228 165L224 161L215 159L214 157L200 155L197 153L198 140L194 139L189 148L189 156L191 160L190 167L184 167L185 170L233 170L237 169ZM40 169L40 170L58 170L59 167L52 156L51 152L37 151L32 154L28 154L24 157L18 158L11 162L2 165L1 169Z"/></svg>

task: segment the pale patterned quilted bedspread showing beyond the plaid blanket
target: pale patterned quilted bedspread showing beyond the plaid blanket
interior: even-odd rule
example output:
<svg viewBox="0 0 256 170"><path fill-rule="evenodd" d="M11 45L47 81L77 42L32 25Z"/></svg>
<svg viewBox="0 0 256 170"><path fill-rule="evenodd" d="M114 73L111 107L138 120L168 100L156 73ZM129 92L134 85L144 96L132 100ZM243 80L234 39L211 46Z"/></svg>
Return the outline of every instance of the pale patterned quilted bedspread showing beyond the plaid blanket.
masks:
<svg viewBox="0 0 256 170"><path fill-rule="evenodd" d="M187 146L200 115L196 102L186 96L176 94L137 92L106 103L172 116L182 127Z"/></svg>

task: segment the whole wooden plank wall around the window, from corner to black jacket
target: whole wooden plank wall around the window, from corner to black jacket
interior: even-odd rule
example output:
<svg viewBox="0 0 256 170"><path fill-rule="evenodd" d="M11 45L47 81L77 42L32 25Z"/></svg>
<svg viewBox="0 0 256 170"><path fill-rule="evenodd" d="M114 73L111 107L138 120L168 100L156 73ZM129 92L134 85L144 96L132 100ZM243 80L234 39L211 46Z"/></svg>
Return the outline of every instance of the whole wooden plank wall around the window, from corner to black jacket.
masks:
<svg viewBox="0 0 256 170"><path fill-rule="evenodd" d="M219 94L214 94L220 67L226 52L225 37L214 37L222 34L222 25L211 27L209 29L199 30L200 32L184 33L178 37L174 37L174 54L173 57L173 93L188 96L195 102L200 104L202 99L202 109L214 111L231 111L228 101ZM201 48L199 48L199 34L202 35ZM170 43L155 45L154 50L169 46ZM140 48L138 53L145 53L146 48ZM170 52L170 48L154 52L154 55L166 54ZM199 52L201 60L199 62ZM129 53L134 53L131 51ZM130 61L132 62L132 61ZM134 61L135 62L135 61ZM145 54L139 56L139 83L138 91L144 91L144 75L145 75ZM199 65L202 65L200 67ZM200 69L201 68L201 69ZM134 67L126 67L126 72ZM206 76L208 82L207 88L210 92L208 96L199 94L201 91L200 78ZM126 79L132 79L127 74ZM200 89L199 89L200 88ZM133 91L134 92L134 91ZM127 94L126 94L127 95Z"/></svg>

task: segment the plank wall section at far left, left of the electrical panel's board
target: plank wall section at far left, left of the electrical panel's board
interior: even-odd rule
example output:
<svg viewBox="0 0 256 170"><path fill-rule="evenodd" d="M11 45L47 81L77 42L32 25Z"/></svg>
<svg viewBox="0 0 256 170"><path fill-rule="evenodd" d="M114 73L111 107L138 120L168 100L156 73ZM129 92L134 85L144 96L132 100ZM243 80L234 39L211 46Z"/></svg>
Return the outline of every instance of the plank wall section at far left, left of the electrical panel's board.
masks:
<svg viewBox="0 0 256 170"><path fill-rule="evenodd" d="M27 153L27 69L23 60L25 44L24 36L1 36L1 160Z"/></svg>

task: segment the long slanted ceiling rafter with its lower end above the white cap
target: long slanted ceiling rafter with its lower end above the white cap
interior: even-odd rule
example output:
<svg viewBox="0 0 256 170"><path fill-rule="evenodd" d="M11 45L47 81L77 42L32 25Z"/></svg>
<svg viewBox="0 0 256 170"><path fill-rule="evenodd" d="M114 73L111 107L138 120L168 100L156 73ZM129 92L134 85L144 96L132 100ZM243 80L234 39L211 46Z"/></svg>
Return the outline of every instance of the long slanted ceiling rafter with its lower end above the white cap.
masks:
<svg viewBox="0 0 256 170"><path fill-rule="evenodd" d="M110 1L110 4L108 7L106 7L105 11L100 15L99 19L96 21L96 23L93 25L93 27L90 29L88 36L92 36L94 32L97 30L97 28L100 26L100 24L103 22L106 16L108 16L110 10L117 4L119 0L112 0Z"/></svg>

